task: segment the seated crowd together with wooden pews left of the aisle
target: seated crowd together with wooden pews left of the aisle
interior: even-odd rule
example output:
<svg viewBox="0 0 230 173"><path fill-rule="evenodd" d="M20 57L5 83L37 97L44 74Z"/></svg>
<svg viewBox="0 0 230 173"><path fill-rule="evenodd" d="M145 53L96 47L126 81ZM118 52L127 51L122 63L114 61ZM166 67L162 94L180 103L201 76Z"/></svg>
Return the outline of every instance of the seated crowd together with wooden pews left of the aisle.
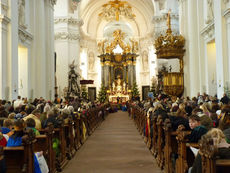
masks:
<svg viewBox="0 0 230 173"><path fill-rule="evenodd" d="M75 98L69 99L68 102L61 99L51 102L42 97L28 102L26 98L20 96L13 102L0 100L0 172L23 172L24 170L25 172L48 173L61 171L66 164L64 162L74 156L74 153L91 135L99 121L104 120L106 110L104 104L99 102L91 103ZM44 134L45 138L49 138L47 131L51 125L53 127L50 133L51 141L47 142L45 139L45 143L39 142ZM61 129L63 125L63 132L57 130ZM56 131L59 131L58 134ZM54 134L52 135L52 133ZM62 135L65 135L64 139ZM27 165L25 168L27 161L22 162L23 165L13 162L8 154L13 154L13 157L16 157L17 153L15 151L7 153L7 151L17 150L19 146L24 146L24 150L26 150L28 140L33 141L34 151L37 152L33 154L33 163L30 163L32 167ZM44 148L41 145L47 145L45 146L47 151L43 151ZM47 149L48 145L51 145L51 149ZM24 157L28 157L27 154L24 153ZM14 164L13 167L12 164ZM17 169L15 168L16 164L19 164Z"/></svg>

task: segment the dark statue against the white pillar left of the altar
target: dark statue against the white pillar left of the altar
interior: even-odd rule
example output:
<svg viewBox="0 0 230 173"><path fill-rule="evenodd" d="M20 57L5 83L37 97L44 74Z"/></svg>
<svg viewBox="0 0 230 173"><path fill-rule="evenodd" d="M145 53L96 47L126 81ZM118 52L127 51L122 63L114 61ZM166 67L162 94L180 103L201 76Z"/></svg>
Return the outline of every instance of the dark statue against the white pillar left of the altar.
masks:
<svg viewBox="0 0 230 173"><path fill-rule="evenodd" d="M69 65L70 71L68 73L68 96L77 96L80 94L80 87L78 85L79 75L75 72L74 61Z"/></svg>

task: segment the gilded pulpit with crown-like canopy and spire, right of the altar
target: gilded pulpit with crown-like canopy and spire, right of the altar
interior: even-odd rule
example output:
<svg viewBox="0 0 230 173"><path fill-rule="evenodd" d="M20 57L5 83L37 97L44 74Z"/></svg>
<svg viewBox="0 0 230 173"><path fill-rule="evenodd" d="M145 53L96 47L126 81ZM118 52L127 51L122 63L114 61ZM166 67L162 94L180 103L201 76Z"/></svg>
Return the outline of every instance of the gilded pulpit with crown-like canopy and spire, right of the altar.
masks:
<svg viewBox="0 0 230 173"><path fill-rule="evenodd" d="M171 96L181 96L184 91L184 64L185 39L181 35L173 35L171 30L170 12L168 13L168 29L166 35L155 40L156 55L158 59L179 59L179 72L162 70L158 74L158 84L162 83L163 91Z"/></svg>

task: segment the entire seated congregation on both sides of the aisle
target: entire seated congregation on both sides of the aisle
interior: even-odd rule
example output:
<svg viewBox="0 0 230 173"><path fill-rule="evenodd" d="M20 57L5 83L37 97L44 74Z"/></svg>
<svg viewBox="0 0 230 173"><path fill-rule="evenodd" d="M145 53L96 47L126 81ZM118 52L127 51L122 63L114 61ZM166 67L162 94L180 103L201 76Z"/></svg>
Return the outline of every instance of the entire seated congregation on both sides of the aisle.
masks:
<svg viewBox="0 0 230 173"><path fill-rule="evenodd" d="M167 146L166 131L164 132L165 139L161 139L159 135L160 130L156 128L159 122L164 122L164 125L170 123L171 131L177 132L177 140L180 138L179 132L186 131L183 135L184 143L196 143L197 150L200 146L200 151L196 153L196 157L192 157L192 161L187 162L185 170L189 172L203 172L202 168L202 146L212 144L218 150L218 157L229 159L230 158L230 106L229 97L224 96L219 100L217 97L212 97L207 94L201 95L198 93L197 97L190 99L189 97L174 98L166 94L159 94L154 100L140 101L138 98L126 102L121 107L127 107L129 115L134 119L138 129L144 136L145 142L149 147L152 154L157 158L161 168L167 167L166 165L172 162L170 172L184 172L180 170L180 153L179 142L176 151L172 150L168 158L160 156L160 148L163 155L167 150L163 148ZM74 122L79 119L79 116L86 117L86 121L82 121L81 140L77 143L81 145L86 136L90 135L90 117L89 110L100 107L104 104L100 102L87 102L81 99L70 99L69 102L60 99L54 102L46 101L42 97L35 99L33 102L28 102L26 98L21 98L10 102L6 100L0 101L0 117L1 117L1 133L0 145L2 147L17 147L24 145L23 137L33 133L34 136L41 135L42 129L47 128L50 124L54 128L60 127L62 124L68 124L69 120ZM109 105L102 107L101 111L96 113L97 117L104 120L105 112L114 112L117 107ZM139 110L139 111L138 111ZM141 111L140 111L141 110ZM95 121L95 119L94 119ZM28 132L30 131L30 132ZM77 136L75 132L72 138ZM163 136L163 135L162 135ZM163 137L164 138L164 137ZM60 154L60 139L52 139L52 148L56 153L56 157ZM68 139L70 140L70 139ZM210 143L210 141L212 142ZM68 142L67 142L68 143ZM159 145L160 143L160 146ZM67 144L66 144L67 145ZM173 145L170 147L174 147ZM34 171L32 172L48 172L49 164L46 163L47 158L39 163L39 157L43 157L44 151L39 151L34 155ZM3 148L1 149L1 171L7 170L7 163L3 155ZM66 152L66 155L68 152ZM187 156L191 149L187 151ZM186 159L186 156L182 156ZM71 158L71 154L69 155ZM58 159L57 159L58 160ZM163 160L163 161L162 161ZM57 161L58 162L58 161ZM36 166L37 165L37 166ZM44 166L45 165L45 166ZM61 166L59 167L61 171ZM56 170L59 169L56 165ZM208 168L206 168L208 169ZM180 170L180 171L179 171ZM172 171L172 172L174 172Z"/></svg>

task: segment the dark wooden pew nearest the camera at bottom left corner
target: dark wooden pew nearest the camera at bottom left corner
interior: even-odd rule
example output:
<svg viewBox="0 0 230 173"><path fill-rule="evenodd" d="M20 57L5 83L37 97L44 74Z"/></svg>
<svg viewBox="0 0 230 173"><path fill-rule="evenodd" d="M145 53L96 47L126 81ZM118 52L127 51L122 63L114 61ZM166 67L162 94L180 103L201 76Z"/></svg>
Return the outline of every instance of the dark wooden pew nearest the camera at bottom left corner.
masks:
<svg viewBox="0 0 230 173"><path fill-rule="evenodd" d="M34 172L34 139L23 137L23 146L4 147L6 173L33 173Z"/></svg>

